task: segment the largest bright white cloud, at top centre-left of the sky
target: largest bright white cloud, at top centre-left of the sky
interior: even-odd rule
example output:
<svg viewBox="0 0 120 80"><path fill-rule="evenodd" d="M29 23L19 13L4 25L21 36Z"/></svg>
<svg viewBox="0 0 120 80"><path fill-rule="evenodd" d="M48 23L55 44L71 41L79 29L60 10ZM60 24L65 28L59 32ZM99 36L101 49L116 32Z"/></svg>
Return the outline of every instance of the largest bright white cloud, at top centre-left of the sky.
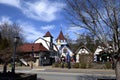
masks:
<svg viewBox="0 0 120 80"><path fill-rule="evenodd" d="M23 9L23 12L27 17L50 22L57 19L57 13L61 11L64 4L40 0L34 3L26 2L26 6L27 7Z"/></svg>

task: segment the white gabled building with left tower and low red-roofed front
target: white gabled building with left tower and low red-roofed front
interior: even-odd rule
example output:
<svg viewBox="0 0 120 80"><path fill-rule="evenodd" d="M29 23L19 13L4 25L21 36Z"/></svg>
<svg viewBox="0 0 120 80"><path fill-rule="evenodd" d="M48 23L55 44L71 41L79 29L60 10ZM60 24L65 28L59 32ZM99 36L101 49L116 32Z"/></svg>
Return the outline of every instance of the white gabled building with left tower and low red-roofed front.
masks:
<svg viewBox="0 0 120 80"><path fill-rule="evenodd" d="M53 43L53 37L49 31L34 43L19 46L19 50L21 53L33 55L35 66L50 65L55 62L55 56L58 55L57 46Z"/></svg>

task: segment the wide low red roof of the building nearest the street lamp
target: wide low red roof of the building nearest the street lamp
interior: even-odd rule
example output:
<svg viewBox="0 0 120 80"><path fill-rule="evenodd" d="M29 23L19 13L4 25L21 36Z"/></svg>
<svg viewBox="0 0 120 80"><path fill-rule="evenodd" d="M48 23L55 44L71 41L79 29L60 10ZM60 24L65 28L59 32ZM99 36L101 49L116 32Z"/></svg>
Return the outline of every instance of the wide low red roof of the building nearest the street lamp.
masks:
<svg viewBox="0 0 120 80"><path fill-rule="evenodd" d="M30 43L26 43L23 44L21 46L18 47L18 50L20 52L33 52L32 51L32 47L34 52L40 52L40 51L48 51L43 45L42 43L34 43L34 44L30 44Z"/></svg>

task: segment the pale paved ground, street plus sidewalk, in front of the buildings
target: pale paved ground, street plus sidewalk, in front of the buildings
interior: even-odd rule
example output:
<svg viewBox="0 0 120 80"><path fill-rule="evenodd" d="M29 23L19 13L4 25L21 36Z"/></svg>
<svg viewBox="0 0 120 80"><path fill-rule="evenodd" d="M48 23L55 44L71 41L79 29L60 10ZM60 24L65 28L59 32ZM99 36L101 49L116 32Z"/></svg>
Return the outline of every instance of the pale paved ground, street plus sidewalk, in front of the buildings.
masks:
<svg viewBox="0 0 120 80"><path fill-rule="evenodd" d="M10 68L8 71L9 70ZM115 78L114 70L100 69L61 69L51 67L30 69L27 67L19 67L16 68L16 72L37 74L38 80L97 80Z"/></svg>

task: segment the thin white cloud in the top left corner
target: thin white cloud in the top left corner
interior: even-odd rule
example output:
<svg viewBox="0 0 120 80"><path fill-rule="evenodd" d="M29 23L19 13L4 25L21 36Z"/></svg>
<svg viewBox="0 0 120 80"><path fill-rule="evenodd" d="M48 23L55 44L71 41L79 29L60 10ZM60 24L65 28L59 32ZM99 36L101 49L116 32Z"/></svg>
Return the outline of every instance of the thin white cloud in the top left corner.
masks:
<svg viewBox="0 0 120 80"><path fill-rule="evenodd" d="M20 0L0 0L0 3L20 8Z"/></svg>

